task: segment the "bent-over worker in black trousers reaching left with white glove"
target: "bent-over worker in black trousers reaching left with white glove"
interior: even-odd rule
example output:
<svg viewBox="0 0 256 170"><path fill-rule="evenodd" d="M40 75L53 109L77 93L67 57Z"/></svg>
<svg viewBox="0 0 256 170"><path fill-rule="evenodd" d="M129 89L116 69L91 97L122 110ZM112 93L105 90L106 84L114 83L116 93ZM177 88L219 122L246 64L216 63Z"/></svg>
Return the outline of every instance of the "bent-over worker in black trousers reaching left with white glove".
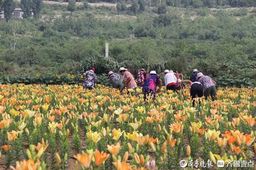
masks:
<svg viewBox="0 0 256 170"><path fill-rule="evenodd" d="M191 96L192 104L194 107L194 98L196 98L196 95L198 97L203 97L203 85L198 81L192 82L190 80L180 80L180 79L178 79L178 81L181 81L182 83L188 83L188 85L191 87L190 96Z"/></svg>

